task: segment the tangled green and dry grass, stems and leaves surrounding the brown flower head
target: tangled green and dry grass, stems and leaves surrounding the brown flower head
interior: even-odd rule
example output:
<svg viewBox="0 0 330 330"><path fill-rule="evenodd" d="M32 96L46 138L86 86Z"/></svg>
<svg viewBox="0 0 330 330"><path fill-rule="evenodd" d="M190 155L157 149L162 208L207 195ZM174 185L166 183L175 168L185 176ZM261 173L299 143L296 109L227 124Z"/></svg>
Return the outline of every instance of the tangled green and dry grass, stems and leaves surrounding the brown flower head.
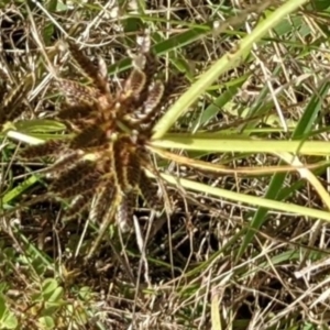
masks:
<svg viewBox="0 0 330 330"><path fill-rule="evenodd" d="M1 2L0 329L329 329L329 1L193 2ZM64 40L120 84L146 30L184 76L143 140L161 211L67 219L56 154L21 157L75 135Z"/></svg>

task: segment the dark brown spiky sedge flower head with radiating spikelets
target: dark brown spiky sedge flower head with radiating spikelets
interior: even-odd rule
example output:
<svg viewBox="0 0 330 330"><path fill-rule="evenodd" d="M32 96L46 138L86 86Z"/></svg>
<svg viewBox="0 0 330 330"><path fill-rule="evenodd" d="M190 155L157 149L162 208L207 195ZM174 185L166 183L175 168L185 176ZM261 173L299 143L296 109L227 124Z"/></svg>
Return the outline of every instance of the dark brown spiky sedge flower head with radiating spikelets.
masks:
<svg viewBox="0 0 330 330"><path fill-rule="evenodd" d="M151 208L157 202L145 174L151 164L145 142L168 91L155 79L157 64L148 42L140 44L133 68L114 91L102 59L95 65L76 44L69 42L68 48L91 80L90 86L56 81L66 100L57 119L67 123L74 138L28 146L21 155L56 157L48 168L54 177L50 189L69 201L66 218L88 209L92 220L102 221L116 208L117 220L128 222L139 195Z"/></svg>

